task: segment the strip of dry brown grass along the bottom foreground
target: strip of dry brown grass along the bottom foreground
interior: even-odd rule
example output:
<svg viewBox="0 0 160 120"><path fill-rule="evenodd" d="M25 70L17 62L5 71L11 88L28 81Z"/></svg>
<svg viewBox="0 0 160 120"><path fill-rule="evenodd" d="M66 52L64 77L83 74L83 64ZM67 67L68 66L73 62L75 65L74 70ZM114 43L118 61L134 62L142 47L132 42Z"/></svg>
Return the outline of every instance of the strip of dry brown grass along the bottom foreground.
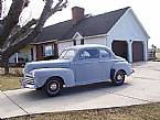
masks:
<svg viewBox="0 0 160 120"><path fill-rule="evenodd" d="M9 118L4 120L160 120L160 103L41 113Z"/></svg>

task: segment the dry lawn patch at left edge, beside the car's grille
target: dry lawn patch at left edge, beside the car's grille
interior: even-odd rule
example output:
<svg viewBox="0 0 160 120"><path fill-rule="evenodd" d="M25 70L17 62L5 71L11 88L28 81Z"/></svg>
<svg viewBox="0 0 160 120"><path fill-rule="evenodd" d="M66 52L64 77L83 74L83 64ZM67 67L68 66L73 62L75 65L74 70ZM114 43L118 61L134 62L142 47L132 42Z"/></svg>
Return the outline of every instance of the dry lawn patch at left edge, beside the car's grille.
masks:
<svg viewBox="0 0 160 120"><path fill-rule="evenodd" d="M20 80L22 77L15 75L3 76L0 75L0 89L1 90L13 90L20 88Z"/></svg>

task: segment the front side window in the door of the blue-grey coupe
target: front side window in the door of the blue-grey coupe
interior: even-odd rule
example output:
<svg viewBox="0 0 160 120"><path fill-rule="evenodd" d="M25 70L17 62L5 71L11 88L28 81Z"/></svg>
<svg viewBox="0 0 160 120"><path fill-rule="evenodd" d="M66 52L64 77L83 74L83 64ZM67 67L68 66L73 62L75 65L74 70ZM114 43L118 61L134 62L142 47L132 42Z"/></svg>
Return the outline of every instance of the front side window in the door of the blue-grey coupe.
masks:
<svg viewBox="0 0 160 120"><path fill-rule="evenodd" d="M96 48L93 50L84 50L79 54L79 58L99 58L99 51Z"/></svg>

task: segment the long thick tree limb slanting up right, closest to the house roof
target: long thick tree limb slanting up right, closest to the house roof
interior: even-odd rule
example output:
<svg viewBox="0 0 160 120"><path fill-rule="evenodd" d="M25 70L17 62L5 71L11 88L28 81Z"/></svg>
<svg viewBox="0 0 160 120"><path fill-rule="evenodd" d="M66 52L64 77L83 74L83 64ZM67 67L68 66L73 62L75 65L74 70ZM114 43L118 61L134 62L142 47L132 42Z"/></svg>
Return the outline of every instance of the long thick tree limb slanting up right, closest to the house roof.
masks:
<svg viewBox="0 0 160 120"><path fill-rule="evenodd" d="M44 9L41 13L41 17L35 25L35 28L23 39L20 39L14 44L11 44L10 47L2 50L2 56L9 58L14 53L19 52L26 45L29 45L33 40L42 32L45 21L55 12L61 11L66 7L67 0L63 3L63 0L58 0L56 6L52 9L53 0L45 0ZM6 56L7 55L7 56Z"/></svg>

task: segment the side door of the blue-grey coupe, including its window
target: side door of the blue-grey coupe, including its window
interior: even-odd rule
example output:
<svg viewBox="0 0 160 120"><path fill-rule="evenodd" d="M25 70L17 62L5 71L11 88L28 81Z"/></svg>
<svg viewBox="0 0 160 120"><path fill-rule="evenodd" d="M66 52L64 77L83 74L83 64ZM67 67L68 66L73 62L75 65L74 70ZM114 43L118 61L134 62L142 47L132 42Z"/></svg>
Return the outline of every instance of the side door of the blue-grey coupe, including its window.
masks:
<svg viewBox="0 0 160 120"><path fill-rule="evenodd" d="M77 85L98 81L100 77L99 50L82 50L75 63L75 77Z"/></svg>

